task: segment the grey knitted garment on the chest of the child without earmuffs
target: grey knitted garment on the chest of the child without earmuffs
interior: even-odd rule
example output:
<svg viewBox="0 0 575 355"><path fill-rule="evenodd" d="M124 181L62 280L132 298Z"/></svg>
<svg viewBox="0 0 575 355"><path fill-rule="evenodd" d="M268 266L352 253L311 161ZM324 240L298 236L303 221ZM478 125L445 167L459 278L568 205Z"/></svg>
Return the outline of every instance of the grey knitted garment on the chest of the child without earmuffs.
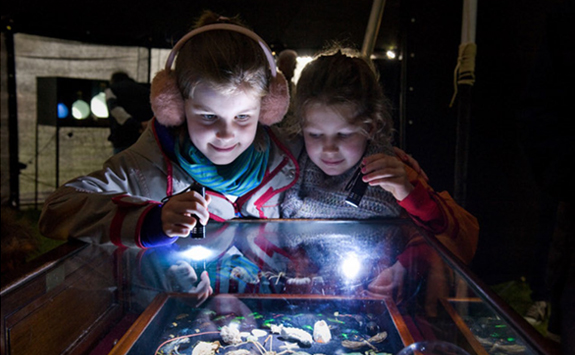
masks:
<svg viewBox="0 0 575 355"><path fill-rule="evenodd" d="M367 155L377 153L368 148ZM381 151L381 149L379 149ZM390 149L384 149L391 154ZM326 175L302 151L299 161L301 175L286 192L281 205L283 218L368 219L399 217L401 207L393 195L379 186L368 186L359 207L345 203L349 191L345 189L359 163L338 176Z"/></svg>

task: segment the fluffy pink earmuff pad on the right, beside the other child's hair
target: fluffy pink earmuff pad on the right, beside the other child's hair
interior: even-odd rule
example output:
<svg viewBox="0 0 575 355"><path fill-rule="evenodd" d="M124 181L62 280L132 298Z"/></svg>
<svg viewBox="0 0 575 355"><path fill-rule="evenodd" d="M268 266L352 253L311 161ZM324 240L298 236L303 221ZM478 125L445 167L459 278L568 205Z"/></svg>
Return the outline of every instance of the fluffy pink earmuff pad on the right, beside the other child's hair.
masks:
<svg viewBox="0 0 575 355"><path fill-rule="evenodd" d="M271 79L268 94L262 98L259 121L266 126L281 122L289 104L287 80L282 73L277 73L277 76Z"/></svg>

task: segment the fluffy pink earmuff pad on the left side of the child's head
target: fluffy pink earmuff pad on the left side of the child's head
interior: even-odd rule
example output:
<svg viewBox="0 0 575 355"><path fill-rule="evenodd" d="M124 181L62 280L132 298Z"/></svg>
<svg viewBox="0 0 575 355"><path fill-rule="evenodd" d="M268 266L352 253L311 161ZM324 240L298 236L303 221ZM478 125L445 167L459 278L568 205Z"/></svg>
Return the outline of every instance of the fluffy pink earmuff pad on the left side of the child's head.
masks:
<svg viewBox="0 0 575 355"><path fill-rule="evenodd" d="M176 127L184 123L184 99L172 70L164 69L156 74L150 89L150 102L156 119L162 125Z"/></svg>

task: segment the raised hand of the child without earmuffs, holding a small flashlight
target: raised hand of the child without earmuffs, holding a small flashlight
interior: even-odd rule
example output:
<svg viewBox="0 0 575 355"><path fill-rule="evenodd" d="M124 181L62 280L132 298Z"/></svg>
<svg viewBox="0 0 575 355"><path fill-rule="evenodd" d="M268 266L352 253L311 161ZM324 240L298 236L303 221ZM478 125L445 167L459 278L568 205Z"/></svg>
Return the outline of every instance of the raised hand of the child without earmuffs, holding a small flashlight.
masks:
<svg viewBox="0 0 575 355"><path fill-rule="evenodd" d="M391 192L396 200L403 200L413 191L405 166L396 157L374 154L363 158L362 165L363 181Z"/></svg>

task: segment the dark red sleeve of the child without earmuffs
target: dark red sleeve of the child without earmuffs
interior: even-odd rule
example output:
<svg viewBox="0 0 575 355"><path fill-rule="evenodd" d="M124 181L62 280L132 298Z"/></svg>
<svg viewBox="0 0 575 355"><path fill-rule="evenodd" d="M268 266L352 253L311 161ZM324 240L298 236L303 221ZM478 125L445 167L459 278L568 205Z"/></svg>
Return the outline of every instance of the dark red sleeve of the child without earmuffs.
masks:
<svg viewBox="0 0 575 355"><path fill-rule="evenodd" d="M399 204L416 224L435 236L463 262L469 263L479 239L477 218L461 207L447 191L436 192L417 172L406 166L415 189Z"/></svg>

